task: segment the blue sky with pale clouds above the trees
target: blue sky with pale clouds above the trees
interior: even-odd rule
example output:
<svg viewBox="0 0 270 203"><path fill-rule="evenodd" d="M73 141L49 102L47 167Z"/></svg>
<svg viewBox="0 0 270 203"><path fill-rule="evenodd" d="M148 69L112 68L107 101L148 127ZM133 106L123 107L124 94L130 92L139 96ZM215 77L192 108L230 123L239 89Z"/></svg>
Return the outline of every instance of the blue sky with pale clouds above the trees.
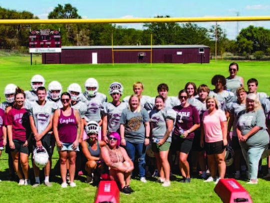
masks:
<svg viewBox="0 0 270 203"><path fill-rule="evenodd" d="M46 19L57 4L70 3L82 18L132 18L170 15L171 17L203 16L258 16L270 15L270 0L0 0L3 8L27 10ZM209 28L213 22L197 23ZM270 21L218 22L229 39L248 25L270 29ZM142 23L121 24L124 27L142 29Z"/></svg>

